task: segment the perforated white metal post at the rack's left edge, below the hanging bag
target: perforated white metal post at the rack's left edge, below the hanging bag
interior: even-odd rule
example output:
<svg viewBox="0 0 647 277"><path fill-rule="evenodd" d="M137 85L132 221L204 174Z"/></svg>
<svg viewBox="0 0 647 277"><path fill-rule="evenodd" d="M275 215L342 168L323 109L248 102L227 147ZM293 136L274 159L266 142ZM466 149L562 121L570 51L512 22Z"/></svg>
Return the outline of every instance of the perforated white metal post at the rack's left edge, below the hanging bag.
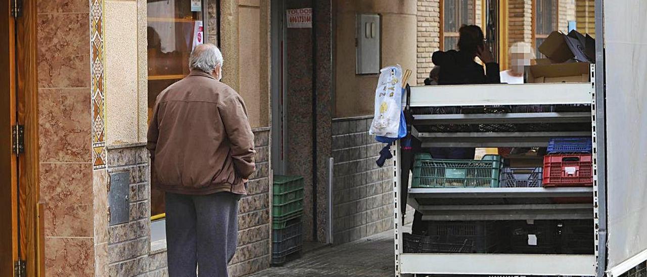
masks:
<svg viewBox="0 0 647 277"><path fill-rule="evenodd" d="M400 272L400 253L402 253L402 214L400 212L400 140L393 144L393 244L395 250L395 277L402 276Z"/></svg>

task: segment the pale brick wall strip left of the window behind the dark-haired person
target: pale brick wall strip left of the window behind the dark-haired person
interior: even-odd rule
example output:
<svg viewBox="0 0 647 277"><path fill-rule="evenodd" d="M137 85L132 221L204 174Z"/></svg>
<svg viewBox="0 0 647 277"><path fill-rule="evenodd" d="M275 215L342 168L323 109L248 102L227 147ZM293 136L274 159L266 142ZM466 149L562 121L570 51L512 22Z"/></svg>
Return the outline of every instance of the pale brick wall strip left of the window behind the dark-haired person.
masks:
<svg viewBox="0 0 647 277"><path fill-rule="evenodd" d="M440 1L418 0L418 66L416 80L410 80L412 84L423 84L433 68L432 54L440 47Z"/></svg>

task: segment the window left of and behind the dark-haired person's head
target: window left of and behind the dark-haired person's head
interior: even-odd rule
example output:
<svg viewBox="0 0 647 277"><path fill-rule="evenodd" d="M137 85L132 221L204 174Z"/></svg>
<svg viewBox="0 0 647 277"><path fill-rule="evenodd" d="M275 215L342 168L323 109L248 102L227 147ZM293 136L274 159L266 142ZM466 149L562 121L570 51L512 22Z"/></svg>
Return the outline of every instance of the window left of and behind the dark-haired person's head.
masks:
<svg viewBox="0 0 647 277"><path fill-rule="evenodd" d="M474 0L443 1L443 49L457 49L458 30L463 25L476 24Z"/></svg>

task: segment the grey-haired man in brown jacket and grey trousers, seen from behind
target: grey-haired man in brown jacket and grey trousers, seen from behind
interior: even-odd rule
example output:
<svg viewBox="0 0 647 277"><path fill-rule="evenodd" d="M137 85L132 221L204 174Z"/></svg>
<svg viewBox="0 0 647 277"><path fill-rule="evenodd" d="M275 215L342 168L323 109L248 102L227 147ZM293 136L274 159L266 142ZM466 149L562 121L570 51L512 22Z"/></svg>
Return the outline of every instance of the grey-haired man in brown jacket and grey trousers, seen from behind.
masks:
<svg viewBox="0 0 647 277"><path fill-rule="evenodd" d="M153 185L165 192L171 277L228 276L237 245L240 195L254 173L245 103L219 82L223 55L195 47L191 73L157 96L148 129Z"/></svg>

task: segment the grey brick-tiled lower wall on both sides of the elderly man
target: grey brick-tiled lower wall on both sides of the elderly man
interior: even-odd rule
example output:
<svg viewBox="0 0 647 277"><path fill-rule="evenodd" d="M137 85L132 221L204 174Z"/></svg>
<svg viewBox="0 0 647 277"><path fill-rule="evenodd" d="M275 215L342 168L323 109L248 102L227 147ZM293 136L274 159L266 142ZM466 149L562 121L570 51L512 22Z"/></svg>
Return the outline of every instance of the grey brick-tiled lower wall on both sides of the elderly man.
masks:
<svg viewBox="0 0 647 277"><path fill-rule="evenodd" d="M256 129L257 170L248 195L239 203L238 248L230 276L243 276L270 265L269 128ZM108 173L130 172L130 218L108 228L109 276L168 276L166 247L151 252L150 170L144 144L109 148Z"/></svg>

